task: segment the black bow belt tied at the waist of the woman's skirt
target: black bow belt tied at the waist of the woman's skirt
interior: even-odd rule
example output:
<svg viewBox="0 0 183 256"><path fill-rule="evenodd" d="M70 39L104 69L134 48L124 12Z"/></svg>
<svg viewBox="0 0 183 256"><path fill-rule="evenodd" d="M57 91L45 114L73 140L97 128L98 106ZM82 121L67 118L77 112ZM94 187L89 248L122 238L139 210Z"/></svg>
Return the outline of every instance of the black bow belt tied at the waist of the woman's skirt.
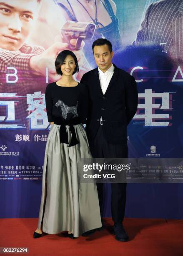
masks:
<svg viewBox="0 0 183 256"><path fill-rule="evenodd" d="M79 117L75 117L70 120L65 120L65 119L61 119L59 117L54 116L54 124L60 125L60 143L69 144L68 134L67 134L66 127L65 127L66 125L69 125L69 130L72 134L69 147L79 144L79 141L76 138L75 129L74 129L73 125L77 125L80 123L81 123L81 121L80 121Z"/></svg>

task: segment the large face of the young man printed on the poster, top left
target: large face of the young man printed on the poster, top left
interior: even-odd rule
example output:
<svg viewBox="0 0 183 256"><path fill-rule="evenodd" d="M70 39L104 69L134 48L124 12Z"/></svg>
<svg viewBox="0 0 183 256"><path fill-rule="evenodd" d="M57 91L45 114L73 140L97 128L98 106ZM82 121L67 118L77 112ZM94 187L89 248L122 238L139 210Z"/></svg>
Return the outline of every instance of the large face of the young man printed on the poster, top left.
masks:
<svg viewBox="0 0 183 256"><path fill-rule="evenodd" d="M0 0L0 48L20 49L32 32L39 10L37 0Z"/></svg>

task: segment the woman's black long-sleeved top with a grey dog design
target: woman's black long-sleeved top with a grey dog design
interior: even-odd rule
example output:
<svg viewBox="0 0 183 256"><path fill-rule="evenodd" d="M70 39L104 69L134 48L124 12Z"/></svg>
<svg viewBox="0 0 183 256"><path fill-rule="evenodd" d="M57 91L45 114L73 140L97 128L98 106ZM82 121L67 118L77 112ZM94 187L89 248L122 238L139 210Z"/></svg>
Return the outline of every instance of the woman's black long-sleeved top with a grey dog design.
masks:
<svg viewBox="0 0 183 256"><path fill-rule="evenodd" d="M58 86L50 83L45 91L48 122L54 121L54 116L65 120L80 117L81 123L86 123L88 113L88 89L78 83L75 87Z"/></svg>

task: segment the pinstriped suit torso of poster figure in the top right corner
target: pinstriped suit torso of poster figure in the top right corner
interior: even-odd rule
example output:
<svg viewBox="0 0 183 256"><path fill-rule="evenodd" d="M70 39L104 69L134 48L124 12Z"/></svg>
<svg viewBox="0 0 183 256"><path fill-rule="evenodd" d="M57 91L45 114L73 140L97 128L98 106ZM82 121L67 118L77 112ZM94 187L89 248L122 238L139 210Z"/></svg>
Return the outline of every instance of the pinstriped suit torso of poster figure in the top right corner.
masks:
<svg viewBox="0 0 183 256"><path fill-rule="evenodd" d="M183 59L183 1L163 0L149 5L133 44L158 45Z"/></svg>

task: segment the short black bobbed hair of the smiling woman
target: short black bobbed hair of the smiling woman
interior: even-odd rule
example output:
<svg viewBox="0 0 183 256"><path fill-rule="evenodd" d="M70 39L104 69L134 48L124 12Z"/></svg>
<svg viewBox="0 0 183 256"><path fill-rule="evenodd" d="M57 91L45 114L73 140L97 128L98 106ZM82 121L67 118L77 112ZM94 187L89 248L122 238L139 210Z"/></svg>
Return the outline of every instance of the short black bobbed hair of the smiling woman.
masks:
<svg viewBox="0 0 183 256"><path fill-rule="evenodd" d="M65 58L70 55L73 57L74 61L75 61L75 69L74 69L74 72L73 74L75 74L75 72L79 72L79 66L78 66L78 60L75 56L75 54L72 52L72 51L69 51L69 50L64 50L64 51L61 51L56 60L55 60L55 68L56 68L56 72L57 74L60 74L62 75L62 71L61 71L61 68L60 66L63 64L63 62L65 61Z"/></svg>

